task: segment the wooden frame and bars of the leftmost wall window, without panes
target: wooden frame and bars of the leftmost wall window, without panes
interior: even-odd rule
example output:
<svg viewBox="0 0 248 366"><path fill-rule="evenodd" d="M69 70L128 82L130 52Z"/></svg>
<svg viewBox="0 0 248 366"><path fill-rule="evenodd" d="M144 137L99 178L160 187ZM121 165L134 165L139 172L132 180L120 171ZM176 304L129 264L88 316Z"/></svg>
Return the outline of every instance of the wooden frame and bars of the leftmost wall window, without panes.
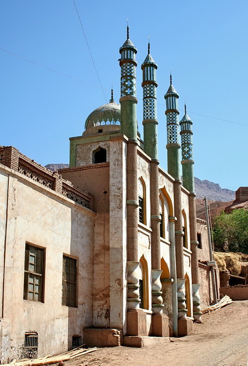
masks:
<svg viewBox="0 0 248 366"><path fill-rule="evenodd" d="M30 256L30 249L35 249L35 256ZM40 258L38 258L37 253L40 253ZM30 261L30 258L35 257L34 262ZM37 258L40 261L39 265L37 263ZM23 299L35 302L44 303L44 288L45 288L45 260L46 251L45 248L33 245L31 243L25 243L25 261L24 261L24 286L23 286ZM34 270L30 269L30 266L34 266ZM31 277L33 277L33 282L30 282ZM39 292L35 291L35 281L40 279ZM34 286L34 291L29 291L29 285ZM33 293L33 298L29 297L29 293ZM38 293L38 299L35 299L35 294Z"/></svg>

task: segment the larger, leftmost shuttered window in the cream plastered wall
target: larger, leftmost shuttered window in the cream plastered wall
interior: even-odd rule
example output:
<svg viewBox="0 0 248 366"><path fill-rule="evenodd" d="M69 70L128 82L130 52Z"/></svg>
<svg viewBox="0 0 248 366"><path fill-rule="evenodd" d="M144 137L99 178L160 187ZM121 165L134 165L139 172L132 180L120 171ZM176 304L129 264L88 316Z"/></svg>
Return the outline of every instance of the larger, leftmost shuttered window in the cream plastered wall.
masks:
<svg viewBox="0 0 248 366"><path fill-rule="evenodd" d="M24 269L23 298L43 301L44 249L26 243Z"/></svg>

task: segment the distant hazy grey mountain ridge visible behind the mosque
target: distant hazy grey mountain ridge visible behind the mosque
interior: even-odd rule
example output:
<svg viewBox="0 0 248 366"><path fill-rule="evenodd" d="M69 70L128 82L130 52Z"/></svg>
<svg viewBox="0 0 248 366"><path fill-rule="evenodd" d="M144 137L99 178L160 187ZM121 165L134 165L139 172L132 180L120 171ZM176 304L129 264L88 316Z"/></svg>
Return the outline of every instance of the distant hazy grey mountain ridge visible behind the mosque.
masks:
<svg viewBox="0 0 248 366"><path fill-rule="evenodd" d="M46 168L56 171L58 169L67 168L69 164L47 164ZM211 201L229 202L235 199L235 192L230 189L223 189L218 183L210 182L209 180L200 180L194 177L196 198L207 197Z"/></svg>

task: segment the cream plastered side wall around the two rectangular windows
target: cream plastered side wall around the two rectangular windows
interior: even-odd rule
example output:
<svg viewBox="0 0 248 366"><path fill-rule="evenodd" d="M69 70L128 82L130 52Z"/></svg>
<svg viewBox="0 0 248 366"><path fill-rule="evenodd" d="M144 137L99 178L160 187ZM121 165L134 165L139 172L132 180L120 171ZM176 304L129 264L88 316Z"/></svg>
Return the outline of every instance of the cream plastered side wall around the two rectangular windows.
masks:
<svg viewBox="0 0 248 366"><path fill-rule="evenodd" d="M9 188L1 363L25 357L26 331L38 333L37 357L40 357L67 351L71 348L72 335L83 338L83 328L92 324L93 268L89 263L93 262L95 215L55 191L1 166L1 222L6 212L4 170L9 175ZM0 235L3 236L2 229ZM45 249L44 303L23 299L26 242ZM77 308L62 306L63 254L78 260Z"/></svg>

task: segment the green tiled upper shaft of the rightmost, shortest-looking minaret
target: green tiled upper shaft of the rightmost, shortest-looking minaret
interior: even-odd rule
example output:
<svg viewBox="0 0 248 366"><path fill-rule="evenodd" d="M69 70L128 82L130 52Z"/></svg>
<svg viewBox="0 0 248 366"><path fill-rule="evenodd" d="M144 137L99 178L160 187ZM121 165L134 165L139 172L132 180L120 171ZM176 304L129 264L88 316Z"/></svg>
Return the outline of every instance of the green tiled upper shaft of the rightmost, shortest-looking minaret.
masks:
<svg viewBox="0 0 248 366"><path fill-rule="evenodd" d="M183 186L189 191L194 192L194 170L193 170L193 143L191 130L192 121L187 115L185 104L185 115L180 121L181 140L182 140L182 169Z"/></svg>

